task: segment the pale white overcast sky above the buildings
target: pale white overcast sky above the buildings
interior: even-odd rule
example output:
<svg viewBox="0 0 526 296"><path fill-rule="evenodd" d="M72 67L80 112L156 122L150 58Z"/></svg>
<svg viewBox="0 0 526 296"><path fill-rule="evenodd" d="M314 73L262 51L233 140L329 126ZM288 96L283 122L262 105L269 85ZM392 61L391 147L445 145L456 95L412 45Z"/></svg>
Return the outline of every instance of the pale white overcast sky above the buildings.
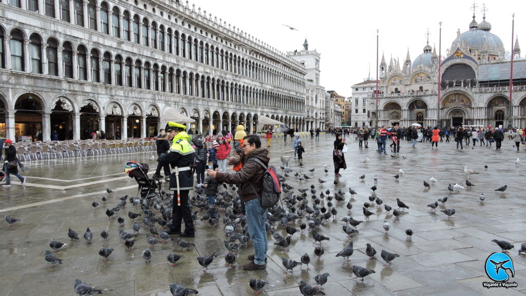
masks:
<svg viewBox="0 0 526 296"><path fill-rule="evenodd" d="M181 0L184 2L184 0ZM320 83L326 90L351 96L351 85L369 75L376 78L376 30L379 29L379 58L389 64L391 56L411 61L423 53L429 29L429 45L439 51L439 22L442 22L442 56L457 37L466 32L473 16L473 2L442 1L342 1L342 0L196 0L196 9L206 10L270 44L281 52L301 50L305 37L309 50L321 54ZM526 56L526 1L486 0L475 3L476 21L482 22L483 4L491 33L511 51L512 14L514 35L519 37L521 57ZM283 26L289 25L299 31ZM514 39L515 37L513 37ZM513 41L514 42L514 41Z"/></svg>

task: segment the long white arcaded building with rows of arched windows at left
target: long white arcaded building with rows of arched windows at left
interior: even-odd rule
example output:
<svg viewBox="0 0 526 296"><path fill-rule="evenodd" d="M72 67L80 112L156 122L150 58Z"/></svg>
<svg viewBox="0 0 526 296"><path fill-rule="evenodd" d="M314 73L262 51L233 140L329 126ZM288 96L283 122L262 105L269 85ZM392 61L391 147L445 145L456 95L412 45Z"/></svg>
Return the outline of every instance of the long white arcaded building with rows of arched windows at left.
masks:
<svg viewBox="0 0 526 296"><path fill-rule="evenodd" d="M305 66L179 1L2 0L0 137L157 134L168 110L205 134L307 127Z"/></svg>

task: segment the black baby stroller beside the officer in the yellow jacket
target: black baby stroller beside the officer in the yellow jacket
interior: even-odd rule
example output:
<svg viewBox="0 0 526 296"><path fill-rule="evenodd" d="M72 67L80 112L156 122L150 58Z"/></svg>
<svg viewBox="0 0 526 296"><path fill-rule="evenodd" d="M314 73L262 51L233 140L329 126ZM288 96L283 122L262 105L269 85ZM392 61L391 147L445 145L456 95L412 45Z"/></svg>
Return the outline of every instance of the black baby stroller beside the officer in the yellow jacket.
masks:
<svg viewBox="0 0 526 296"><path fill-rule="evenodd" d="M129 161L124 166L124 171L139 185L135 199L139 198L140 194L140 204L145 204L147 199L162 198L163 196L160 192L161 182L157 179L148 178L149 169L150 166L147 163L136 163L135 161ZM134 203L134 198L130 198L130 202Z"/></svg>

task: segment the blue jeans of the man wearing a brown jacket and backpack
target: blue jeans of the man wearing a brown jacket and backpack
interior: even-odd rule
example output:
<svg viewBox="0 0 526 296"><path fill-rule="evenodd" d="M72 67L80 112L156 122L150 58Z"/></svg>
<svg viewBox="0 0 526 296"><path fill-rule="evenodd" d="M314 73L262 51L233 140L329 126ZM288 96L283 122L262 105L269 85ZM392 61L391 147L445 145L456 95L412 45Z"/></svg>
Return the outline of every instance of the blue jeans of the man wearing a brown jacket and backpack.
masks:
<svg viewBox="0 0 526 296"><path fill-rule="evenodd" d="M245 203L245 212L248 233L254 242L254 263L263 265L267 258L267 210L261 208L258 199L253 199Z"/></svg>

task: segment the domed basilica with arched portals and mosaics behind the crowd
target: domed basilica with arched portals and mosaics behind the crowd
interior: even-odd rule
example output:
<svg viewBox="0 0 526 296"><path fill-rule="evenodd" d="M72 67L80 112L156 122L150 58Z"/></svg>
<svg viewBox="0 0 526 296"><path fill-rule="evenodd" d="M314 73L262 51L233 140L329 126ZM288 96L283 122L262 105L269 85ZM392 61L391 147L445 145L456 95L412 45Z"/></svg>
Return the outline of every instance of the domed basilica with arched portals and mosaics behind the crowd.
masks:
<svg viewBox="0 0 526 296"><path fill-rule="evenodd" d="M490 33L491 24L478 24L475 16L469 30L457 38L441 63L438 85L438 55L428 44L411 61L409 51L401 63L384 56L379 65L378 116L375 93L370 94L370 122L409 126L483 125L526 126L526 60L518 40L512 49L513 88L510 97L510 57L500 38ZM438 98L440 87L440 100Z"/></svg>

